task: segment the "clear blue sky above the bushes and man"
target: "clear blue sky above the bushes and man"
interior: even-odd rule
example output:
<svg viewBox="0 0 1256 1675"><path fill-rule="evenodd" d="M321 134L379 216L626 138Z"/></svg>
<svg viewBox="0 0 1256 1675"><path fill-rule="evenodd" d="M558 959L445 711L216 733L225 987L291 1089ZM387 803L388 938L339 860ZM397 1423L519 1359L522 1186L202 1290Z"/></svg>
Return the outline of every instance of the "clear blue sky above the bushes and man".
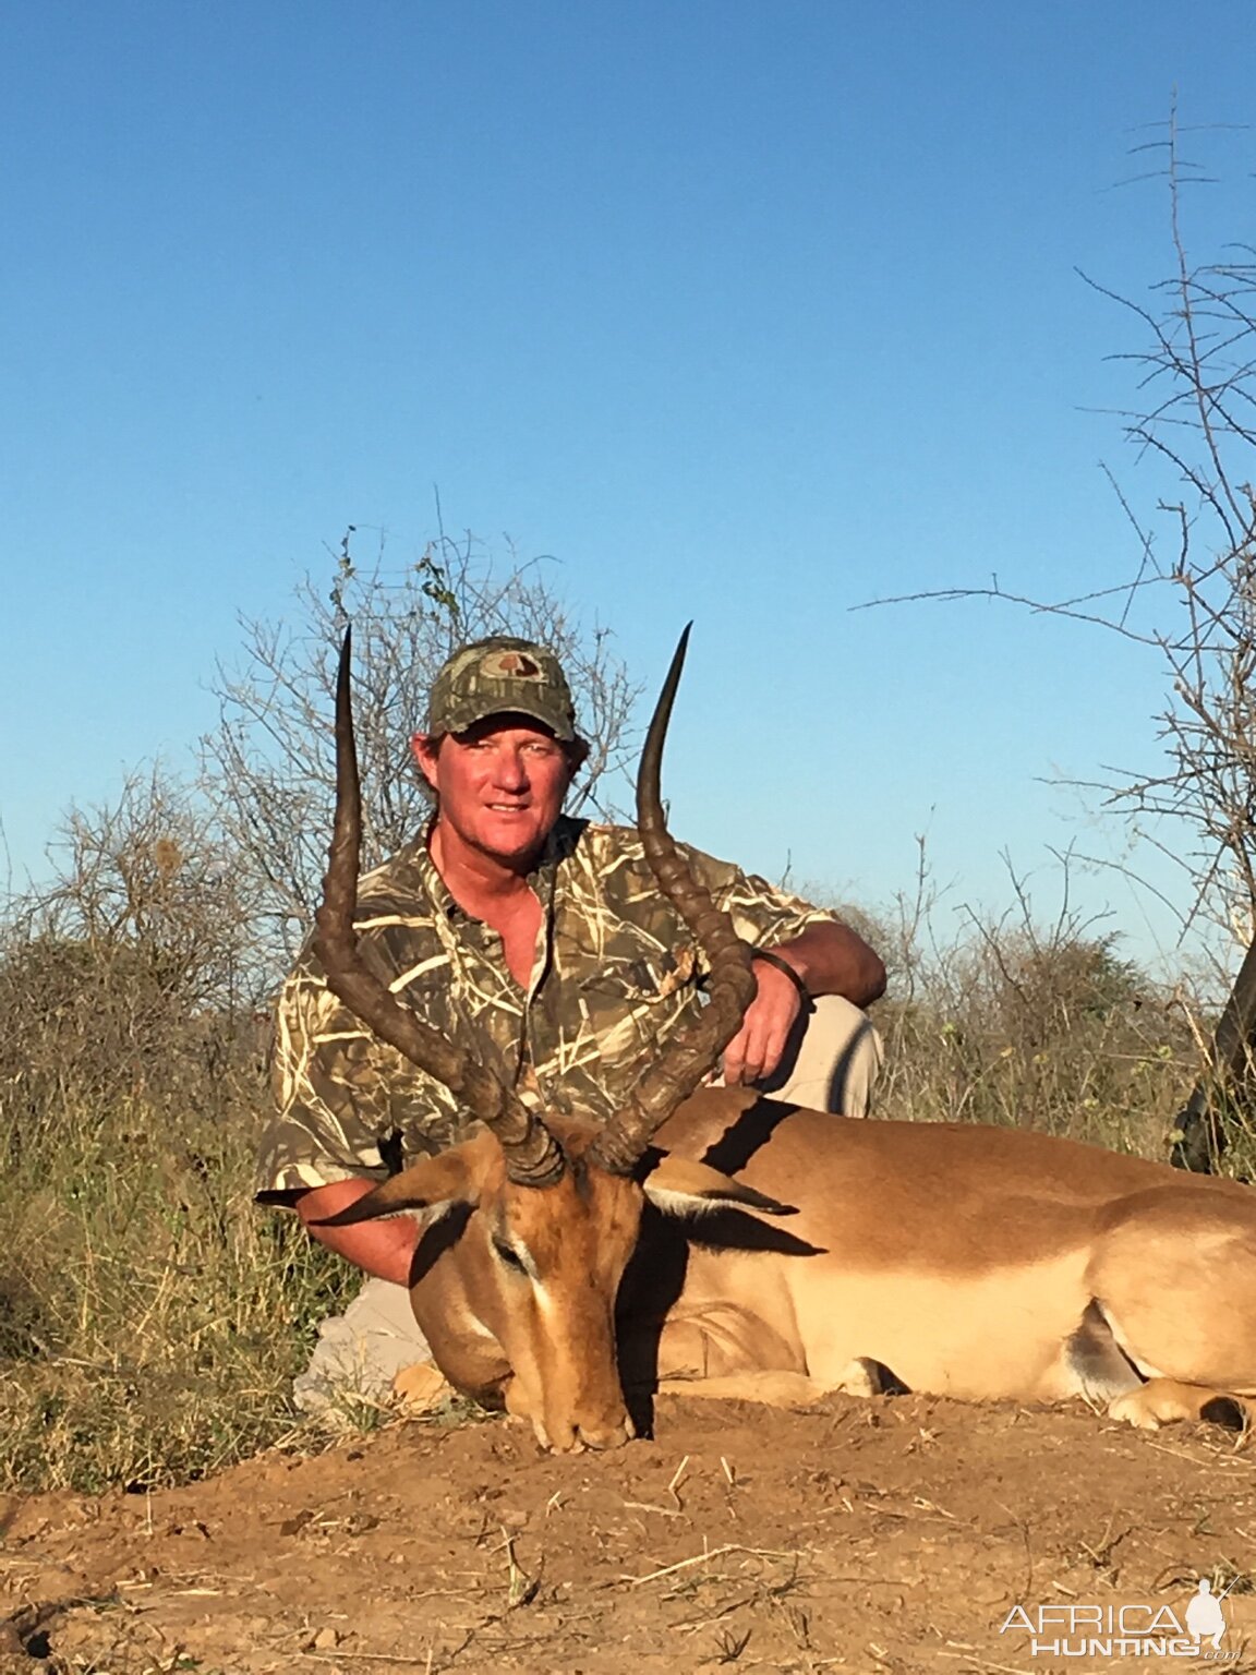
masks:
<svg viewBox="0 0 1256 1675"><path fill-rule="evenodd" d="M558 559L653 685L695 638L680 834L876 906L928 834L950 908L1008 851L1122 856L1053 786L1156 762L1152 653L980 601L1132 566L1099 462L1140 347L1077 276L1169 268L1147 168L1251 114L1246 0L0 12L0 819L213 725L238 613L347 524ZM1256 136L1186 147L1201 256L1251 236ZM373 534L372 534L373 539ZM1145 858L1149 873L1164 869ZM1134 951L1114 876L1073 879Z"/></svg>

